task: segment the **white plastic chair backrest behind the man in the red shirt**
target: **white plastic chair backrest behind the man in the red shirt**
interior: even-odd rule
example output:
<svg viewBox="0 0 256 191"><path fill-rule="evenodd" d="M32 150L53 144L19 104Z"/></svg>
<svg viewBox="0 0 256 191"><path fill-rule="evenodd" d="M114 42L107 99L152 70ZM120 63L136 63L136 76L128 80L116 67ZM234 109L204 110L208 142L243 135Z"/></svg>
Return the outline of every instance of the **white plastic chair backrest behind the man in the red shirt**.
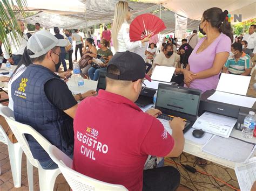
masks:
<svg viewBox="0 0 256 191"><path fill-rule="evenodd" d="M60 172L62 172L72 190L127 190L122 185L113 185L92 179L89 176L74 171L72 169L72 160L54 145L49 147L48 154L59 166Z"/></svg>

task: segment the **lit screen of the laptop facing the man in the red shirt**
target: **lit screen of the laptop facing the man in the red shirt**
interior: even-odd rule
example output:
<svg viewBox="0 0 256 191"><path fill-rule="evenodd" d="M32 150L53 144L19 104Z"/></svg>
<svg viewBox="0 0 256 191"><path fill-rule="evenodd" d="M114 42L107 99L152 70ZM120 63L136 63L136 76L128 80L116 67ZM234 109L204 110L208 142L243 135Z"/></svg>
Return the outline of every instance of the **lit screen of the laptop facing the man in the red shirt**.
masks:
<svg viewBox="0 0 256 191"><path fill-rule="evenodd" d="M197 116L200 90L159 84L156 108Z"/></svg>

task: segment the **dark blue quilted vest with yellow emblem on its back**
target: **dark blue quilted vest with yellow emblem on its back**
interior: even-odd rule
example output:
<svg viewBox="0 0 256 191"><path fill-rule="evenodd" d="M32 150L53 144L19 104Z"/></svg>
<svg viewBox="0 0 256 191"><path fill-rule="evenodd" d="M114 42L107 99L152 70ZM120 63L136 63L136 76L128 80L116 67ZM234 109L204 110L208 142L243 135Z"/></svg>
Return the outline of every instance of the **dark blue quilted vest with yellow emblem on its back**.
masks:
<svg viewBox="0 0 256 191"><path fill-rule="evenodd" d="M73 152L73 119L52 104L45 95L44 84L59 76L41 65L30 65L12 83L11 95L14 100L15 120L32 126L42 136L67 155ZM62 81L62 80L60 80ZM65 82L63 86L66 86ZM30 150L40 162L49 160L49 155L29 135L26 135Z"/></svg>

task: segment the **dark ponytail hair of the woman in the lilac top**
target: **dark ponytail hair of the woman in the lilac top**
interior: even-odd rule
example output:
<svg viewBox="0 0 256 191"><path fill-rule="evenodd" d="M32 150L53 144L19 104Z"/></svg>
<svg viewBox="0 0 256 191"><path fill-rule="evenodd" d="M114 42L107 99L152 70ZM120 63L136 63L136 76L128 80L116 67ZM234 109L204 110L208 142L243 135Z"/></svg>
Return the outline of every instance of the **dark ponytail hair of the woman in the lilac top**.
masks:
<svg viewBox="0 0 256 191"><path fill-rule="evenodd" d="M204 11L204 20L211 23L212 27L219 29L219 32L226 34L231 39L233 43L233 31L230 23L227 20L228 11L224 12L220 8L210 8Z"/></svg>

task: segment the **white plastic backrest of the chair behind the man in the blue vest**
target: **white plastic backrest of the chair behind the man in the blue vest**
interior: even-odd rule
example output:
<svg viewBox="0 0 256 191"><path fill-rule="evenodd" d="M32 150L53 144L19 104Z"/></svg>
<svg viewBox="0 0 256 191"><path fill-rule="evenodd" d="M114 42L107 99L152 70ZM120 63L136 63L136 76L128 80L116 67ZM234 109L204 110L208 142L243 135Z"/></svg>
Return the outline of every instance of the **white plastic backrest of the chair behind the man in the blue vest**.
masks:
<svg viewBox="0 0 256 191"><path fill-rule="evenodd" d="M26 157L29 159L30 163L38 168L39 162L30 151L28 141L25 138L24 134L29 134L37 140L37 142L44 148L45 151L48 151L49 146L51 145L48 140L46 140L42 135L40 135L36 130L31 128L29 125L25 125L14 120L14 112L8 107L1 107L2 116L5 117L7 123L9 124L12 132L17 138L19 144L21 144L22 150L26 154Z"/></svg>

